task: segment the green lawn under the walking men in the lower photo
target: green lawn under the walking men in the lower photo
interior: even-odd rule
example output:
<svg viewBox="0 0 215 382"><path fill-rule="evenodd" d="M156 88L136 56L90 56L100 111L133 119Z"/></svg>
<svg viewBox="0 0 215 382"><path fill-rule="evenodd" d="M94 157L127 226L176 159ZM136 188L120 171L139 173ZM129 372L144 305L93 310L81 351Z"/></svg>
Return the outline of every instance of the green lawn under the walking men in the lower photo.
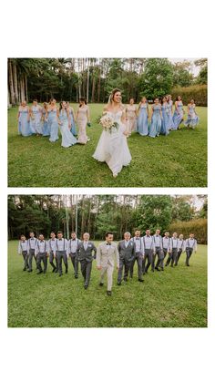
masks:
<svg viewBox="0 0 215 382"><path fill-rule="evenodd" d="M84 290L80 275L69 272L59 278L48 267L46 275L22 271L17 242L8 251L8 325L10 327L205 327L207 326L207 247L199 245L190 267L181 255L177 268L135 277L117 285L113 294L106 284L99 287L99 272L93 263L89 288Z"/></svg>

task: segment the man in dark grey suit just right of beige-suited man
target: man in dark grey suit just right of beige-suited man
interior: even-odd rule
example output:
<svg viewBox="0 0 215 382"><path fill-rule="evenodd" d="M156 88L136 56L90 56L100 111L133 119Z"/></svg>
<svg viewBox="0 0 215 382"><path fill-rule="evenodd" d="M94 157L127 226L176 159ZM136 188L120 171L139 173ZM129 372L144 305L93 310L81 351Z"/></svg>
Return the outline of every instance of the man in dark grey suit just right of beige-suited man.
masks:
<svg viewBox="0 0 215 382"><path fill-rule="evenodd" d="M122 273L124 268L124 281L128 281L128 272L130 264L135 258L135 243L130 240L130 232L124 233L124 240L118 243L119 268L118 268L118 285L122 282Z"/></svg>

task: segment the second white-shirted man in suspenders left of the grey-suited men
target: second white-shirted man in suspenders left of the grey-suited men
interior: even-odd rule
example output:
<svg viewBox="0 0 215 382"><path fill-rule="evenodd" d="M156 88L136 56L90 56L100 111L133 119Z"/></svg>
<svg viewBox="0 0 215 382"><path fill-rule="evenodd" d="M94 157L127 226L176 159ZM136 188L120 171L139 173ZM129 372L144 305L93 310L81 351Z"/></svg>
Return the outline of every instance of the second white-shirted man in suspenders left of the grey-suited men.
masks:
<svg viewBox="0 0 215 382"><path fill-rule="evenodd" d="M58 265L58 272L59 277L63 275L62 270L62 260L65 264L65 273L68 272L68 242L67 239L63 237L63 232L58 231L57 232L57 239L56 239L56 253L54 253L54 257L56 258L57 265Z"/></svg>

